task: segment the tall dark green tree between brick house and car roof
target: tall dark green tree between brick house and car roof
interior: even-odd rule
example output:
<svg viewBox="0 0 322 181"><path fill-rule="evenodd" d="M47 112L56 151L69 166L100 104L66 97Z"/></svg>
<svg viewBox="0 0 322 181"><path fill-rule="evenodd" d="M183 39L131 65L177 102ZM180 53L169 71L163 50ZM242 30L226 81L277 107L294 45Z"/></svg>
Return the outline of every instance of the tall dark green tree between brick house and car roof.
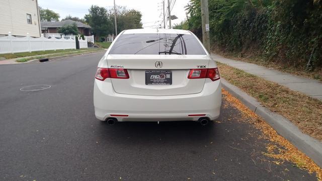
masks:
<svg viewBox="0 0 322 181"><path fill-rule="evenodd" d="M84 19L92 27L95 39L98 40L101 36L112 34L112 22L107 15L107 10L99 6L91 6L90 14L85 15Z"/></svg>

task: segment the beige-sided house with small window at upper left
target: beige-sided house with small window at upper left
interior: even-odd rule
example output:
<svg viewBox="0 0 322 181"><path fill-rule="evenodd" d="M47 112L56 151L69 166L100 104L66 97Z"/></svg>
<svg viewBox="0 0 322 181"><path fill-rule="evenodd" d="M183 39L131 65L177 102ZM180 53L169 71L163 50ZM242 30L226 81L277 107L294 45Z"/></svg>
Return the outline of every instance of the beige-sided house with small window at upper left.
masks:
<svg viewBox="0 0 322 181"><path fill-rule="evenodd" d="M38 0L0 0L0 36L40 37Z"/></svg>

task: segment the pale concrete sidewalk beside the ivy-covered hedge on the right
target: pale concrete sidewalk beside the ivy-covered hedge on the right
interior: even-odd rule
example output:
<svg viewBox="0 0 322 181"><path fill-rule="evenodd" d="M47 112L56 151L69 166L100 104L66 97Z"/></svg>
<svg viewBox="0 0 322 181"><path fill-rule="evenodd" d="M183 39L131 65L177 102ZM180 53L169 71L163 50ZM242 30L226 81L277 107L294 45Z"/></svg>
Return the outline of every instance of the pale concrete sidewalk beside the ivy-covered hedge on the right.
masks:
<svg viewBox="0 0 322 181"><path fill-rule="evenodd" d="M278 70L266 68L253 63L232 60L211 53L213 60L229 66L244 70L248 73L260 76L266 80L284 85L293 91L301 92L311 98L322 101L322 82L301 76L284 73Z"/></svg>

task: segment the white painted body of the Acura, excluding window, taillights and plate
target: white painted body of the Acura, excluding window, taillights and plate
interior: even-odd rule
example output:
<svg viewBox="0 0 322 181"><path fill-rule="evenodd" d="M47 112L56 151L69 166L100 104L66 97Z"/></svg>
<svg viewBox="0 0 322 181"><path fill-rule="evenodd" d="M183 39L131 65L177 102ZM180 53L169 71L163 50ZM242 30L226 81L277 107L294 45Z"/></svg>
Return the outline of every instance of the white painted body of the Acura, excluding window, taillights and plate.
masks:
<svg viewBox="0 0 322 181"><path fill-rule="evenodd" d="M126 34L183 34L193 35L205 51L204 55L177 54L109 54L121 35ZM160 39L161 40L161 39ZM164 41L164 40L163 40ZM162 68L155 62L162 61ZM201 117L215 120L221 106L220 79L189 79L190 69L198 66L217 68L198 38L186 30L135 29L125 30L111 44L100 60L100 68L126 69L129 78L95 78L94 107L97 119L105 121L198 121ZM172 71L171 85L145 84L145 70Z"/></svg>

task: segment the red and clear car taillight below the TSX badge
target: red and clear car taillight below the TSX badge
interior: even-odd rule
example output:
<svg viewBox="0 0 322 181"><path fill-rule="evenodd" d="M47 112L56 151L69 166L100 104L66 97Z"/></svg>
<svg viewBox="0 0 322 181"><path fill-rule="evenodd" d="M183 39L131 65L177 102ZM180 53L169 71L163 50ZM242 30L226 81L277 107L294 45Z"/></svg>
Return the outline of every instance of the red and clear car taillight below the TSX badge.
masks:
<svg viewBox="0 0 322 181"><path fill-rule="evenodd" d="M188 78L210 78L212 81L215 81L220 78L220 74L218 68L190 69Z"/></svg>

